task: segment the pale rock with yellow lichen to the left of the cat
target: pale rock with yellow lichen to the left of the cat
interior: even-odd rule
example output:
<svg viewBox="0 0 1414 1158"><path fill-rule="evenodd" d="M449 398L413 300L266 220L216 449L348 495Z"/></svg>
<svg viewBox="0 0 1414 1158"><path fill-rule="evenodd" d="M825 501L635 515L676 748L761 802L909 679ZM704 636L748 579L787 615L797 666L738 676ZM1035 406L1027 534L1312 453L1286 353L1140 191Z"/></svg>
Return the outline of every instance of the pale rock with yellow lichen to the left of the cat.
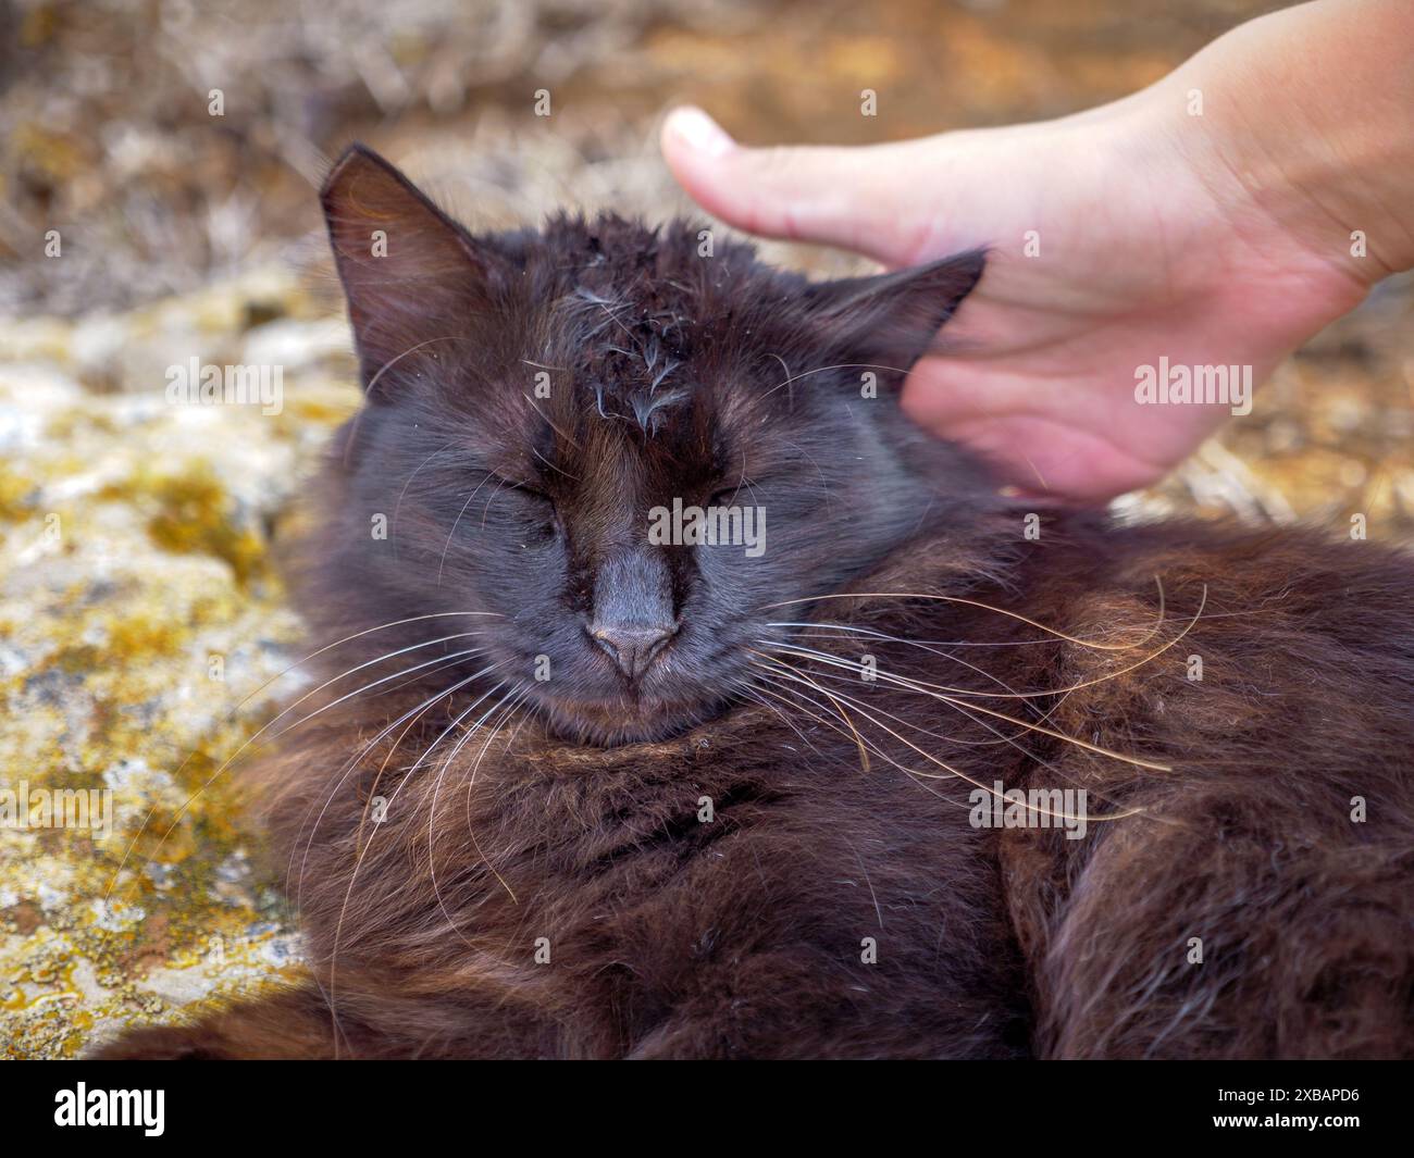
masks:
<svg viewBox="0 0 1414 1158"><path fill-rule="evenodd" d="M250 328L250 303L266 321ZM298 967L222 761L298 684L270 558L358 402L283 271L75 324L0 325L0 790L98 793L112 833L0 827L0 1056ZM279 359L286 406L173 406L192 352ZM208 785L209 782L209 785ZM62 819L62 817L61 817Z"/></svg>

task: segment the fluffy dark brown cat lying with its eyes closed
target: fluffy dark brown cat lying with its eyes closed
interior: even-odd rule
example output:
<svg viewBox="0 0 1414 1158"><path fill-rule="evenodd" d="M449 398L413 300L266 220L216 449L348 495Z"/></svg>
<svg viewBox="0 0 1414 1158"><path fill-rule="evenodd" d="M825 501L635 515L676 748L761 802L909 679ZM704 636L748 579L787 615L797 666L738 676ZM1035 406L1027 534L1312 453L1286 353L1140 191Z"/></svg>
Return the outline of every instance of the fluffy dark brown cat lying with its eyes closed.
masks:
<svg viewBox="0 0 1414 1158"><path fill-rule="evenodd" d="M983 273L324 189L366 403L257 771L310 980L134 1058L1414 1052L1414 568L998 498Z"/></svg>

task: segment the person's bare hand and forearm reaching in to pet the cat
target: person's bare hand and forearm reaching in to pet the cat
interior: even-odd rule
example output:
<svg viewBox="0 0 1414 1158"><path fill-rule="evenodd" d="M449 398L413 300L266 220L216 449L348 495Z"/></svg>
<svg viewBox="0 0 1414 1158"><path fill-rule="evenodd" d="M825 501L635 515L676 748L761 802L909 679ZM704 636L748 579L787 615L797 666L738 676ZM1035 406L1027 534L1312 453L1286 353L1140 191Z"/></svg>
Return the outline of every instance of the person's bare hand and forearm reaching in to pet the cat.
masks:
<svg viewBox="0 0 1414 1158"><path fill-rule="evenodd" d="M904 406L1010 486L1103 502L1157 482L1229 419L1137 404L1137 366L1250 365L1260 382L1414 267L1414 4L1261 17L1059 120L752 148L684 107L662 147L704 209L752 233L889 267L988 246L953 352L918 365Z"/></svg>

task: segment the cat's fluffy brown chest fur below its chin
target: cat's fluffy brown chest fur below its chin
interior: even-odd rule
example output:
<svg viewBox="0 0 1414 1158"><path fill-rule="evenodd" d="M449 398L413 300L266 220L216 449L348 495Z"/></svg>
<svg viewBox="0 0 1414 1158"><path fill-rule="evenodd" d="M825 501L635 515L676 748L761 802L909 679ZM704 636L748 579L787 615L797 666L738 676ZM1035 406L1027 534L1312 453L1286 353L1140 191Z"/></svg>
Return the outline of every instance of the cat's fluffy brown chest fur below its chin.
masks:
<svg viewBox="0 0 1414 1158"><path fill-rule="evenodd" d="M942 771L1014 754L977 728L930 730L932 761L904 724L864 744L848 721L902 706L857 683L618 749L512 724L447 764L460 731L420 759L443 717L352 769L373 723L331 721L291 755L324 799L271 810L315 973L522 1007L530 1052L1017 1052L995 834Z"/></svg>

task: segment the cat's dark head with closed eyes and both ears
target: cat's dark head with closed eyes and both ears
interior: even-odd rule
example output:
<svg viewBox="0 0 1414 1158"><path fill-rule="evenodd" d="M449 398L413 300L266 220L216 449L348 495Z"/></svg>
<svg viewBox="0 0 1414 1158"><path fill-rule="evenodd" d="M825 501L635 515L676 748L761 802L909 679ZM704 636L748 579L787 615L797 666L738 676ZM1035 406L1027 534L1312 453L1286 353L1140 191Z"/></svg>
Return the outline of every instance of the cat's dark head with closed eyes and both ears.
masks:
<svg viewBox="0 0 1414 1158"><path fill-rule="evenodd" d="M895 396L978 253L812 283L683 222L472 236L361 147L322 199L366 400L304 604L430 616L378 638L458 636L393 665L431 689L486 669L564 735L666 737L976 492Z"/></svg>

